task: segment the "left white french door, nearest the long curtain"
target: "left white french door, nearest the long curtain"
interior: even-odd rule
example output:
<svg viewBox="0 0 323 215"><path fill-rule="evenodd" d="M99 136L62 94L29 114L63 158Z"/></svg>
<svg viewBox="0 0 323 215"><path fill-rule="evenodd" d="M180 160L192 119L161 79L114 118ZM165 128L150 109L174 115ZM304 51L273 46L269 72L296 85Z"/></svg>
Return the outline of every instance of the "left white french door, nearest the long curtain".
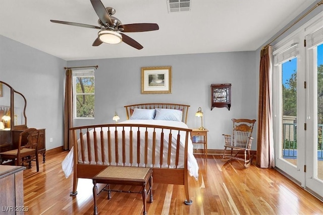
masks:
<svg viewBox="0 0 323 215"><path fill-rule="evenodd" d="M304 186L304 62L297 38L274 51L275 165Z"/></svg>

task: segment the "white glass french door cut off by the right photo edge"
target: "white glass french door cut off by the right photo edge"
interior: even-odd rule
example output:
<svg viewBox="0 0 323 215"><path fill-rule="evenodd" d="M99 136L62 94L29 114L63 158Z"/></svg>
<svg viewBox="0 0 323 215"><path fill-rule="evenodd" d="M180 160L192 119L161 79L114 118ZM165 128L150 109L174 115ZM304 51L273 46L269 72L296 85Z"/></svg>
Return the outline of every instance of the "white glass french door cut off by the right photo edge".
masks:
<svg viewBox="0 0 323 215"><path fill-rule="evenodd" d="M306 188L323 198L323 21L306 36L308 61L308 132L306 134Z"/></svg>

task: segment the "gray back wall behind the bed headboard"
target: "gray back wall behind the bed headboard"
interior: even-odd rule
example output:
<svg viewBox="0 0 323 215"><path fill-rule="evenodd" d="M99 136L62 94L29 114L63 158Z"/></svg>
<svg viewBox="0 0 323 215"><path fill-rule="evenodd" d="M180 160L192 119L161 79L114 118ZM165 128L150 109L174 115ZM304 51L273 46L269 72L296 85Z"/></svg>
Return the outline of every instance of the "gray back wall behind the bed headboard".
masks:
<svg viewBox="0 0 323 215"><path fill-rule="evenodd" d="M209 130L208 149L223 149L223 133L232 132L231 118L257 119L258 84L255 52L184 54L115 59L68 61L68 66L98 65L95 70L95 119L74 125L114 123L118 112L126 120L124 105L149 102L190 105L188 126L197 128L198 107L204 112L203 125ZM172 94L141 94L141 67L172 66ZM210 85L231 83L232 106L210 110ZM256 135L254 128L253 135ZM256 140L253 143L256 149Z"/></svg>

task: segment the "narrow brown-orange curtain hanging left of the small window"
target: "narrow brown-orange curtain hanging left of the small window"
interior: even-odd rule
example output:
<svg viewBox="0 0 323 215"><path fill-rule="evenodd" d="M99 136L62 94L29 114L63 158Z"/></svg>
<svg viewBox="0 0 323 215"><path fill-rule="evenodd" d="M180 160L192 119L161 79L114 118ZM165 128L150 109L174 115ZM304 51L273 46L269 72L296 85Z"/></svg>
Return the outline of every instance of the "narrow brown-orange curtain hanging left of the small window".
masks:
<svg viewBox="0 0 323 215"><path fill-rule="evenodd" d="M72 69L66 69L65 83L65 103L64 103L64 150L72 149L73 127L73 89L72 89Z"/></svg>

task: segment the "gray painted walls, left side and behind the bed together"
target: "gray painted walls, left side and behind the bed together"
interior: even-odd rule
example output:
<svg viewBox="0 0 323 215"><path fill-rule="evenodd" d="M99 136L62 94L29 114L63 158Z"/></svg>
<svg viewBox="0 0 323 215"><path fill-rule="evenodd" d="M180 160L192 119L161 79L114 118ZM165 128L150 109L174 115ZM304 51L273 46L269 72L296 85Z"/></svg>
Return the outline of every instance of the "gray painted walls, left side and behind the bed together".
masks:
<svg viewBox="0 0 323 215"><path fill-rule="evenodd" d="M46 128L46 149L63 145L65 66L99 66L95 70L96 117L75 121L74 125L113 123L115 111L125 120L124 105L182 103L191 105L188 116L191 128L200 126L195 112L202 108L203 124L209 130L208 148L223 149L222 133L231 132L231 118L257 116L253 51L66 62L4 36L0 36L0 42L0 79L26 97L28 127ZM172 66L172 94L141 94L141 67L162 65ZM210 110L210 85L216 83L232 84L230 111Z"/></svg>

